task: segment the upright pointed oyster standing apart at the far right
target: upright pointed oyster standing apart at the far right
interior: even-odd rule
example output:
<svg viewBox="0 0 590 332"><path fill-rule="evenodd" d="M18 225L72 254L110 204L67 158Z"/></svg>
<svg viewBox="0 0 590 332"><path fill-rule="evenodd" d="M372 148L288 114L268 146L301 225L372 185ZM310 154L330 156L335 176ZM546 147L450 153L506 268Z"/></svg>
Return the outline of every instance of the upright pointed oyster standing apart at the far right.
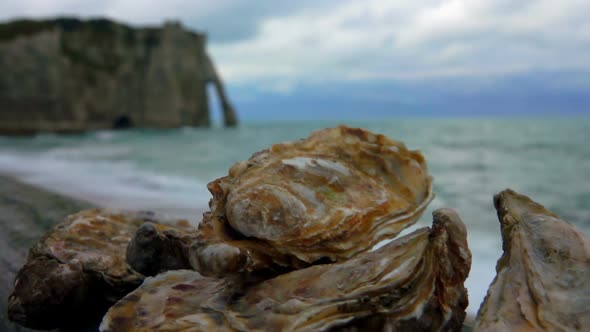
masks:
<svg viewBox="0 0 590 332"><path fill-rule="evenodd" d="M476 331L581 331L590 327L590 241L510 189L494 197L504 254Z"/></svg>

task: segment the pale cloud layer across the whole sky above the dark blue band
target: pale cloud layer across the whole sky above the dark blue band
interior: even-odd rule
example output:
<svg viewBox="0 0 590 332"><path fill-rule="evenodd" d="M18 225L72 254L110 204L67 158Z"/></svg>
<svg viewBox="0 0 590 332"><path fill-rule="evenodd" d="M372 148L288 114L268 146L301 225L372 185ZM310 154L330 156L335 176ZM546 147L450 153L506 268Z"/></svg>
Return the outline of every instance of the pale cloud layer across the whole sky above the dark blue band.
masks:
<svg viewBox="0 0 590 332"><path fill-rule="evenodd" d="M579 86L588 80L576 73L590 70L587 0L0 2L0 18L59 14L180 20L209 33L226 80L282 93L305 84L554 71L571 73L561 86Z"/></svg>

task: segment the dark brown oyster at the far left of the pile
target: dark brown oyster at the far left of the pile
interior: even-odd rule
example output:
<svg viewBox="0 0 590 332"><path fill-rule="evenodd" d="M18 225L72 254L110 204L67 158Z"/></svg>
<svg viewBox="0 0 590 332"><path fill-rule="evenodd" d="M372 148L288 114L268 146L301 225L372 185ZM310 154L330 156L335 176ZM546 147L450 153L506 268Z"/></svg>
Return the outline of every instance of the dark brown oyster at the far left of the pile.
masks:
<svg viewBox="0 0 590 332"><path fill-rule="evenodd" d="M150 212L87 210L71 215L29 251L8 300L20 325L51 329L84 325L141 284L125 249Z"/></svg>

